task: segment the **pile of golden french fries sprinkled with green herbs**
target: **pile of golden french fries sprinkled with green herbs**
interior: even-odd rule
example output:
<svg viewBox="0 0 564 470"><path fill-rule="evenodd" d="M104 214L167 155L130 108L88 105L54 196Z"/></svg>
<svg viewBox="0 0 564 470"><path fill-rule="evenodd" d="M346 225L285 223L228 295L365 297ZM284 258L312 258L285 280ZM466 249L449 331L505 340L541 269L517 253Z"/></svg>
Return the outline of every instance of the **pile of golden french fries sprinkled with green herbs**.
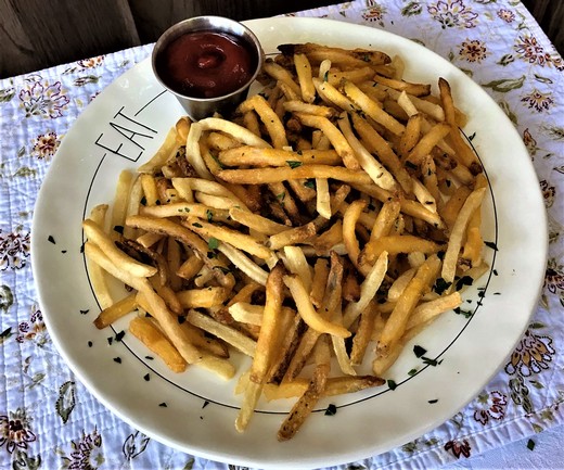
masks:
<svg viewBox="0 0 564 470"><path fill-rule="evenodd" d="M283 441L321 397L384 384L405 344L461 304L457 281L487 270L487 182L445 79L433 96L380 51L279 50L261 93L179 119L82 227L95 326L130 315L175 372L231 379L230 356L248 356L235 427L261 396L296 397Z"/></svg>

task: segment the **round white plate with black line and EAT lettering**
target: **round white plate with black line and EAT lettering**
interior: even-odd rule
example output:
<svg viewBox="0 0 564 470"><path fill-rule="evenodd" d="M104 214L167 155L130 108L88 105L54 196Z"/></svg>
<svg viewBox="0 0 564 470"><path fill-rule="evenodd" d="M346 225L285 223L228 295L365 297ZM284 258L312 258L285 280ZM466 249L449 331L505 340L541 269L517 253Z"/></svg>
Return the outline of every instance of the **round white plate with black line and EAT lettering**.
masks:
<svg viewBox="0 0 564 470"><path fill-rule="evenodd" d="M260 403L248 430L239 434L233 427L240 401L233 396L235 380L225 383L197 368L170 373L158 360L145 359L145 350L131 335L108 345L106 339L127 327L118 322L114 331L98 331L92 325L100 309L80 252L80 221L93 205L112 201L118 173L148 160L182 114L153 78L149 61L119 77L85 110L51 165L33 227L39 298L51 336L74 372L105 406L148 435L191 454L252 467L354 461L440 424L504 364L538 298L547 255L544 207L529 156L509 119L477 85L435 53L379 29L328 20L247 24L266 52L274 52L279 42L302 41L379 48L406 59L408 78L436 84L443 76L450 81L459 106L469 113L465 131L475 135L473 144L489 178L484 232L498 247L488 250L491 271L465 293L473 318L444 315L389 371L387 378L398 384L395 391L383 386L323 399L286 443L277 442L275 434L290 402ZM440 365L423 364L412 352L414 344ZM410 377L414 368L418 373ZM329 404L336 405L336 415L324 415Z"/></svg>

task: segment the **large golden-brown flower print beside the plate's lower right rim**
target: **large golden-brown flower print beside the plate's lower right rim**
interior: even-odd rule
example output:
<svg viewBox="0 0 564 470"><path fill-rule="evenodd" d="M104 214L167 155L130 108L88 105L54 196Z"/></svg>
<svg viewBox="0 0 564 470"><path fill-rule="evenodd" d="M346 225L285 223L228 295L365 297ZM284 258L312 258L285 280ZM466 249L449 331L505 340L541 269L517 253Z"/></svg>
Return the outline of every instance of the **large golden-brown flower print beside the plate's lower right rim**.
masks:
<svg viewBox="0 0 564 470"><path fill-rule="evenodd" d="M527 330L505 365L505 372L510 376L518 373L523 377L539 373L549 368L554 354L552 338L537 336Z"/></svg>

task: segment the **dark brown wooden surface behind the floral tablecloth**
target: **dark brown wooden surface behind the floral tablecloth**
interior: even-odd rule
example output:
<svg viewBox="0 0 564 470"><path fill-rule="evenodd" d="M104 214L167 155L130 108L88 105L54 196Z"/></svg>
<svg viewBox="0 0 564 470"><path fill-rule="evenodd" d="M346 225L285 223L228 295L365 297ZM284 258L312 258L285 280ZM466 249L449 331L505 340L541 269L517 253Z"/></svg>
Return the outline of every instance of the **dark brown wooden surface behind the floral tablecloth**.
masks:
<svg viewBox="0 0 564 470"><path fill-rule="evenodd" d="M174 23L201 14L265 17L331 0L0 0L0 78L154 42ZM564 2L524 0L561 54Z"/></svg>

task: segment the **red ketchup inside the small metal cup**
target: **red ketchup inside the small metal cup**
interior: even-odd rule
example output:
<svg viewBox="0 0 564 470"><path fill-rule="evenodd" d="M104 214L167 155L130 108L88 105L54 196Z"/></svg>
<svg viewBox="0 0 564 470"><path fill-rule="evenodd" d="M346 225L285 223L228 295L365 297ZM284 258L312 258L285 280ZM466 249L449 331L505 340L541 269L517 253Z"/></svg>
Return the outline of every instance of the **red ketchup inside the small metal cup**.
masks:
<svg viewBox="0 0 564 470"><path fill-rule="evenodd" d="M226 33L188 33L170 42L156 59L163 81L180 94L216 98L244 86L257 58L245 43Z"/></svg>

